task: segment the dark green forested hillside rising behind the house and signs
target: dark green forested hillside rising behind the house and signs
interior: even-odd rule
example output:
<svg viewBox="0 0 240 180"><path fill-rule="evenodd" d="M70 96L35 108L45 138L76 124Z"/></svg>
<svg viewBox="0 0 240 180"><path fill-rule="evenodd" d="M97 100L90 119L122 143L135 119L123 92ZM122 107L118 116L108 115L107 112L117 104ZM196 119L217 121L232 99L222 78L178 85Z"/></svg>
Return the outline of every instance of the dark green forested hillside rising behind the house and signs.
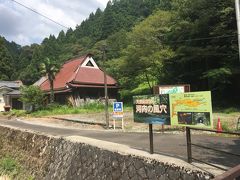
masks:
<svg viewBox="0 0 240 180"><path fill-rule="evenodd" d="M0 78L32 84L46 57L61 64L86 53L118 80L123 98L151 93L156 84L188 83L211 90L215 101L240 99L234 0L113 0L40 45L1 38Z"/></svg>

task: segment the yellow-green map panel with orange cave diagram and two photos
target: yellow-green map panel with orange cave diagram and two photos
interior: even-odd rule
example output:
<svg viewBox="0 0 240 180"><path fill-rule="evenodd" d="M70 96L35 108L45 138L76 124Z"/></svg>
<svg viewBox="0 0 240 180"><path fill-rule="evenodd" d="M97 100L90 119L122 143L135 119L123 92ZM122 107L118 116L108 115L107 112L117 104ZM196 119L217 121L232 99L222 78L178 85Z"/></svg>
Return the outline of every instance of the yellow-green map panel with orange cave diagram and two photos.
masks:
<svg viewBox="0 0 240 180"><path fill-rule="evenodd" d="M170 95L171 124L212 128L211 92Z"/></svg>

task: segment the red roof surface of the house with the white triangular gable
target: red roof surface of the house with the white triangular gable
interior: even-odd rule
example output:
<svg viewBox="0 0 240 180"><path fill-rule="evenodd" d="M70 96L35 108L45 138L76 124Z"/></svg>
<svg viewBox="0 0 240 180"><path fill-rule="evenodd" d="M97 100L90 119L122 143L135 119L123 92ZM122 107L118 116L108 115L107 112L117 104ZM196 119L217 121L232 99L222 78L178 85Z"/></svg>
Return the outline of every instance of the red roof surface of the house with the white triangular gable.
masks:
<svg viewBox="0 0 240 180"><path fill-rule="evenodd" d="M67 61L60 71L56 74L53 83L54 90L68 89L68 83L71 85L104 85L104 73L98 67L86 67L82 66L85 60L90 55L75 58ZM117 82L115 79L107 75L107 84L109 86L116 86ZM50 90L50 83L48 80L44 81L40 88L44 91Z"/></svg>

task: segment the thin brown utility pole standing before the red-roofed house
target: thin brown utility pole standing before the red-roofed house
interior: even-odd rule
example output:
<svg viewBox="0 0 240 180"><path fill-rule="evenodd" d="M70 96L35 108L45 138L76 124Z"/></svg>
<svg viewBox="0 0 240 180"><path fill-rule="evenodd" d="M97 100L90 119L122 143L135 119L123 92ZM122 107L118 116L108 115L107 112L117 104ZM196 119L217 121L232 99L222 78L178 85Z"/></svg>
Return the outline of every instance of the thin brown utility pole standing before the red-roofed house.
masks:
<svg viewBox="0 0 240 180"><path fill-rule="evenodd" d="M106 47L102 47L102 61L105 63L105 51ZM108 89L107 89L107 74L105 69L103 70L104 73L104 96L105 96L105 119L106 119L106 126L107 129L109 128L109 113L108 113Z"/></svg>

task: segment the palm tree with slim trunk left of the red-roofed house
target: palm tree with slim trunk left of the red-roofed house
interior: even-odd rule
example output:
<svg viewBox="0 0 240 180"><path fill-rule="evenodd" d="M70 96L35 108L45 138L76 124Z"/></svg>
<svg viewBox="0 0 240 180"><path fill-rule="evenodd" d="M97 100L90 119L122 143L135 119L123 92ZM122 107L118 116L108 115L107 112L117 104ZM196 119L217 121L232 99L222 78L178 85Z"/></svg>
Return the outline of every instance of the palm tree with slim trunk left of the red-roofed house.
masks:
<svg viewBox="0 0 240 180"><path fill-rule="evenodd" d="M56 73L59 71L59 65L56 63L56 61L47 57L44 59L43 63L40 64L40 69L41 73L48 77L50 83L50 103L54 103L53 81Z"/></svg>

